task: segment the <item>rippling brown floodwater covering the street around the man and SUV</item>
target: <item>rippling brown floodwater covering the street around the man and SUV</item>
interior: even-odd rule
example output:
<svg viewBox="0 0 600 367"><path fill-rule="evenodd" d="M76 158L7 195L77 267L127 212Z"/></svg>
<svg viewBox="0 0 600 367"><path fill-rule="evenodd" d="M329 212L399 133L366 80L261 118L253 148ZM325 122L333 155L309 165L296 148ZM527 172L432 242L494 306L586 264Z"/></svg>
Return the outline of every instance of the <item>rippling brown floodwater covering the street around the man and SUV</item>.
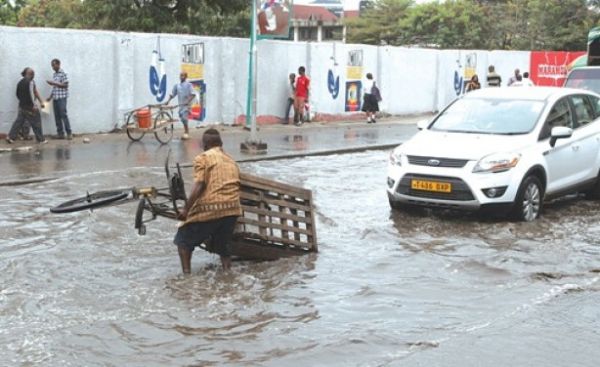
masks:
<svg viewBox="0 0 600 367"><path fill-rule="evenodd" d="M600 203L392 213L387 154L242 165L313 190L320 252L229 274L197 251L180 275L175 222L140 237L135 204L48 212L159 168L3 188L0 365L596 366Z"/></svg>

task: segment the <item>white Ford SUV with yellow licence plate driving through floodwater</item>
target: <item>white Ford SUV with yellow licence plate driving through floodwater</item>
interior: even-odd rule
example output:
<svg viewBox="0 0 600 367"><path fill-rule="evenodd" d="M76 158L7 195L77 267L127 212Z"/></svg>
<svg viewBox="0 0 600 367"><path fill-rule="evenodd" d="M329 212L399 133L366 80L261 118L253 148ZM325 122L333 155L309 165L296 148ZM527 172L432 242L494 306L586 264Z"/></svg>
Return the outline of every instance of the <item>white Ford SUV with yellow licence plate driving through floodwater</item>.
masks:
<svg viewBox="0 0 600 367"><path fill-rule="evenodd" d="M600 95L486 88L458 98L390 155L393 208L492 209L533 221L544 199L600 197Z"/></svg>

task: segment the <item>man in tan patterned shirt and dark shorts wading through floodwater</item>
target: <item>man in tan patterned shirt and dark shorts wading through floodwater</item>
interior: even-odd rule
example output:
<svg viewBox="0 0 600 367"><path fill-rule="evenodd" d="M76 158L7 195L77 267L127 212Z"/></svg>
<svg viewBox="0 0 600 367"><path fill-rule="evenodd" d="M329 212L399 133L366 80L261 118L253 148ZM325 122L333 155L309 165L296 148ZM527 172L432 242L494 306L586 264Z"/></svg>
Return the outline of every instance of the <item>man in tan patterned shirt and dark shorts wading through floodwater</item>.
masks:
<svg viewBox="0 0 600 367"><path fill-rule="evenodd" d="M202 144L204 153L194 158L194 188L179 216L184 223L174 240L185 274L190 273L194 248L209 237L209 249L219 254L223 269L231 268L229 241L237 217L242 215L240 170L223 152L219 132L206 130Z"/></svg>

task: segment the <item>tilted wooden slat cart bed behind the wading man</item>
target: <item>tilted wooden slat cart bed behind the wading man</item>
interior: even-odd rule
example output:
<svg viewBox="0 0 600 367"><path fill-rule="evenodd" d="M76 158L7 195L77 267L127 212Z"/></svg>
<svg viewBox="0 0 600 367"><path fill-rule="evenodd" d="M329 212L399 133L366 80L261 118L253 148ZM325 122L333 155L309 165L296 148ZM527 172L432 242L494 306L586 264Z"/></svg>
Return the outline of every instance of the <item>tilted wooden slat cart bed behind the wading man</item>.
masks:
<svg viewBox="0 0 600 367"><path fill-rule="evenodd" d="M312 192L241 174L243 215L231 243L243 259L273 260L317 252Z"/></svg>

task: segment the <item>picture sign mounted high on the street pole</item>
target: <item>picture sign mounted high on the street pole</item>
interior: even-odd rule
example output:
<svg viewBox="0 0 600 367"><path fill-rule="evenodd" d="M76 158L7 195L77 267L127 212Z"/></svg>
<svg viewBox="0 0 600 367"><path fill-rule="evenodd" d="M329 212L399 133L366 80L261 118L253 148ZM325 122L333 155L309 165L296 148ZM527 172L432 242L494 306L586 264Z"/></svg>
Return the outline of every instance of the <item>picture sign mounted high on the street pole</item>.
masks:
<svg viewBox="0 0 600 367"><path fill-rule="evenodd" d="M292 0L256 0L258 38L289 38Z"/></svg>

